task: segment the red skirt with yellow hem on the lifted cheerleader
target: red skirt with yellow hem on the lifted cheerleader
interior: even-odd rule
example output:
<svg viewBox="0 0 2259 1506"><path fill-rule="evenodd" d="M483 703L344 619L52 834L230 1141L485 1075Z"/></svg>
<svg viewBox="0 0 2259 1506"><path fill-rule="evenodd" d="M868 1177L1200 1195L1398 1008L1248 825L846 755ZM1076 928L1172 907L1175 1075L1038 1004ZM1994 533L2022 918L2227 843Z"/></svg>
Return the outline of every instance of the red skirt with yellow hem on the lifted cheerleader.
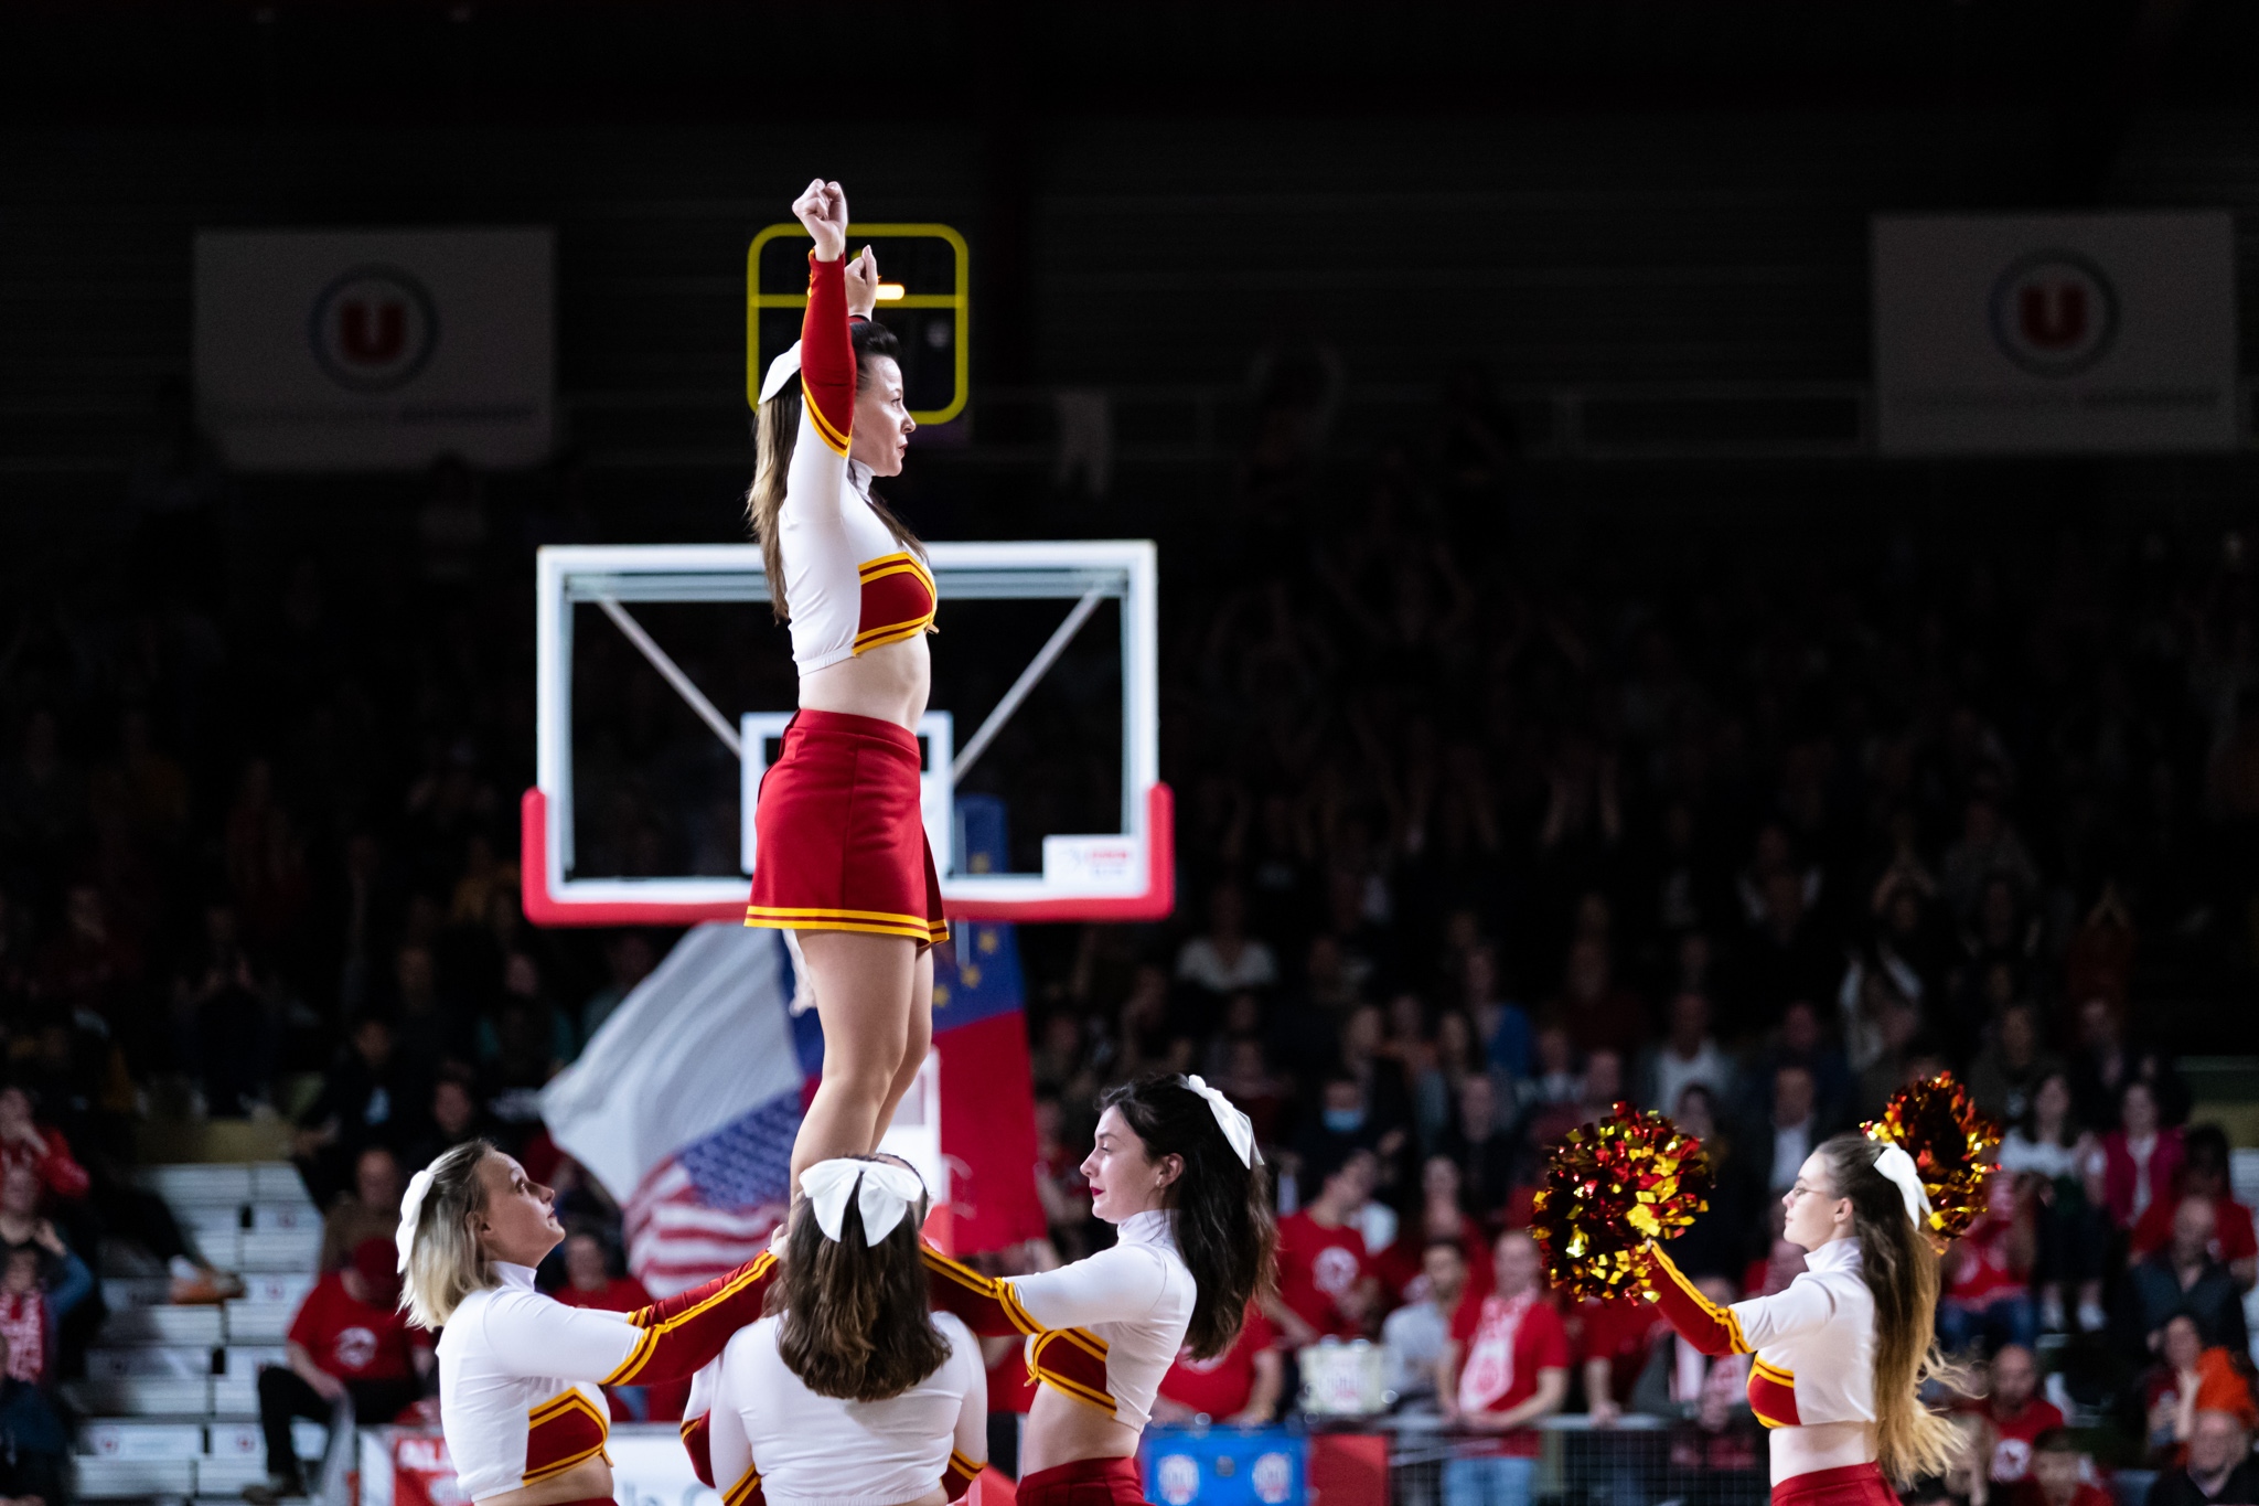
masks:
<svg viewBox="0 0 2259 1506"><path fill-rule="evenodd" d="M917 799L917 736L845 711L800 711L752 808L748 926L949 939Z"/></svg>

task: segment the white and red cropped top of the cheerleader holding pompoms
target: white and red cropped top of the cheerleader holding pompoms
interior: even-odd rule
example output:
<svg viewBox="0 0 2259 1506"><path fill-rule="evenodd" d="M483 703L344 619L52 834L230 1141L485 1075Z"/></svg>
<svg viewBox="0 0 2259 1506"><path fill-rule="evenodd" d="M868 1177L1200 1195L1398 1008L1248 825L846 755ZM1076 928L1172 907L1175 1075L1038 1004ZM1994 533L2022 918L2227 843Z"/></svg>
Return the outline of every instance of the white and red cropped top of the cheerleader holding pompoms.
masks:
<svg viewBox="0 0 2259 1506"><path fill-rule="evenodd" d="M1767 1427L1875 1420L1875 1294L1859 1273L1859 1242L1830 1240L1805 1255L1785 1292L1719 1307L1669 1255L1647 1246L1647 1292L1703 1355L1755 1355L1748 1409Z"/></svg>

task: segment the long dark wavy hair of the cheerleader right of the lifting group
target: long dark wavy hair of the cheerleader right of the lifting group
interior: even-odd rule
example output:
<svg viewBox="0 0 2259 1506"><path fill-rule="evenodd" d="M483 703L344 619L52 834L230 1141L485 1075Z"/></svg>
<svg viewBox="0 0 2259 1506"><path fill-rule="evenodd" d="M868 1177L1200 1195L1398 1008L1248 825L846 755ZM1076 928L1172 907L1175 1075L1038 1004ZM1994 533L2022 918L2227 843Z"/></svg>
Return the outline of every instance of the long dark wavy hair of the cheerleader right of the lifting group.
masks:
<svg viewBox="0 0 2259 1506"><path fill-rule="evenodd" d="M1168 1185L1170 1235L1193 1273L1193 1323L1184 1341L1195 1359L1215 1359L1240 1337L1247 1303L1270 1296L1279 1280L1272 1258L1279 1228L1263 1167L1240 1165L1209 1100L1175 1072L1125 1082L1098 1106L1130 1120L1148 1161L1184 1156L1184 1174Z"/></svg>

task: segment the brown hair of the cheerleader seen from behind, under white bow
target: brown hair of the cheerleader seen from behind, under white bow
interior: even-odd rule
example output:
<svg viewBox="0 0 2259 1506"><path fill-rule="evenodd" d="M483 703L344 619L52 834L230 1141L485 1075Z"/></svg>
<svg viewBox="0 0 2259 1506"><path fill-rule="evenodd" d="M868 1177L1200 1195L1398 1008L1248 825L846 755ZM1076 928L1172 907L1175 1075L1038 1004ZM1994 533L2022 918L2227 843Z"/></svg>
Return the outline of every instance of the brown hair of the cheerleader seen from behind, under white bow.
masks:
<svg viewBox="0 0 2259 1506"><path fill-rule="evenodd" d="M867 1249L856 1201L856 1192L849 1192L840 1237L827 1240L815 1210L800 1199L784 1280L770 1287L768 1307L784 1305L777 1357L809 1391L849 1402L883 1402L940 1371L949 1359L949 1339L933 1325L926 1262L917 1251L924 1203L895 1224L876 1249Z"/></svg>

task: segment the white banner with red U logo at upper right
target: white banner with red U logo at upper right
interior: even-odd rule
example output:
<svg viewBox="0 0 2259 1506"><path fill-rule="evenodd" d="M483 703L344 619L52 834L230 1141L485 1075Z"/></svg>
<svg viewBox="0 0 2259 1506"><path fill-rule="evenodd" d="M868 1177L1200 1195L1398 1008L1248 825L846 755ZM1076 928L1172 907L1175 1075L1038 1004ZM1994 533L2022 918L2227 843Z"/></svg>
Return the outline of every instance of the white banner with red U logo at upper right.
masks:
<svg viewBox="0 0 2259 1506"><path fill-rule="evenodd" d="M2234 221L1875 217L1884 454L2234 449Z"/></svg>

